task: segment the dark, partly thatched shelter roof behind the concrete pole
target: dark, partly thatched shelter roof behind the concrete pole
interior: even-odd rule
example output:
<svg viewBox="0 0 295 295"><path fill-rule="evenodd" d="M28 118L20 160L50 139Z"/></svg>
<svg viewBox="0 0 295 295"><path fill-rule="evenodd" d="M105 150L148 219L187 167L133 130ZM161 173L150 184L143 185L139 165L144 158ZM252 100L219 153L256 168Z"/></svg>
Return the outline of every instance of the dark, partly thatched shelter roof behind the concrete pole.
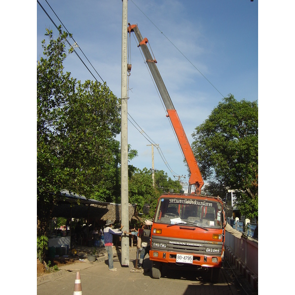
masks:
<svg viewBox="0 0 295 295"><path fill-rule="evenodd" d="M121 220L121 204L87 199L82 195L70 193L66 190L62 191L61 194L61 198L53 208L53 217L95 218L103 221L111 219L114 222ZM136 204L129 204L128 215L129 222L131 219L141 220L137 215Z"/></svg>

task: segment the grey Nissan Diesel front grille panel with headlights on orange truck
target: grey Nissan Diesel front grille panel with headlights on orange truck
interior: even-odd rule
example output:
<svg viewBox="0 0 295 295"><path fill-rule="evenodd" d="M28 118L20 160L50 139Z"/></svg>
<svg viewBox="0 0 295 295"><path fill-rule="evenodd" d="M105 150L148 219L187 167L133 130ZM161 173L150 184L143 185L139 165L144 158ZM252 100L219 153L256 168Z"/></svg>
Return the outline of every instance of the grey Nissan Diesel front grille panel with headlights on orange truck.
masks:
<svg viewBox="0 0 295 295"><path fill-rule="evenodd" d="M156 245L155 245L156 244ZM162 244L162 245L161 245ZM166 248L164 245L166 244ZM212 255L213 252L206 252L206 248L219 249L219 253L214 252L214 256L221 256L222 242L203 241L195 239L172 238L167 236L152 236L150 249L177 253L192 253L198 255Z"/></svg>

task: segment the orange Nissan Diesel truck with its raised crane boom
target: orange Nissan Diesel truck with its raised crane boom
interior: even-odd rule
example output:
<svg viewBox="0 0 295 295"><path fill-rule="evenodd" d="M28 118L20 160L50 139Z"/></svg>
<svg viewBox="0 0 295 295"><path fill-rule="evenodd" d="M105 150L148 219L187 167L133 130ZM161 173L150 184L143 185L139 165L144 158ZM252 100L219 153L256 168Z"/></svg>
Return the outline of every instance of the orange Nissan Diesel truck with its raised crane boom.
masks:
<svg viewBox="0 0 295 295"><path fill-rule="evenodd" d="M211 281L216 282L224 256L226 218L232 217L233 207L201 191L203 177L156 60L149 52L148 39L142 37L137 25L128 24L128 32L136 35L190 170L188 193L164 193L158 199L150 232L152 277L161 277L162 266L192 271L207 268Z"/></svg>

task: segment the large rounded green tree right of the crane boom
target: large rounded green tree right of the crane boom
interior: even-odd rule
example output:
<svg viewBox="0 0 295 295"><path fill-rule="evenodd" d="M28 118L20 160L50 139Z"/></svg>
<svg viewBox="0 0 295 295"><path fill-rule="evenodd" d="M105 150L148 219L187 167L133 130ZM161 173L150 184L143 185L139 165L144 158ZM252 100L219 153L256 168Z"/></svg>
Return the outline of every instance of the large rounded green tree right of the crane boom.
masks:
<svg viewBox="0 0 295 295"><path fill-rule="evenodd" d="M258 103L229 95L192 134L192 149L204 180L220 194L236 190L237 206L258 216Z"/></svg>

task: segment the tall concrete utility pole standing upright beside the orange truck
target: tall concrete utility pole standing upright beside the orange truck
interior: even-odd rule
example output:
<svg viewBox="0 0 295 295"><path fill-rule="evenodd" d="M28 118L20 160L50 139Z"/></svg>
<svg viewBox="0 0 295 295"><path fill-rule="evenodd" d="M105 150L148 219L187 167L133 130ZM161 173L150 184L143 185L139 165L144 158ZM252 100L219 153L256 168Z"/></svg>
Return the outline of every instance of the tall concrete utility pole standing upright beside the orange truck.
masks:
<svg viewBox="0 0 295 295"><path fill-rule="evenodd" d="M127 118L127 1L122 0L122 66L121 66L121 224L129 232L128 209L128 118ZM121 238L121 264L129 266L129 236Z"/></svg>

